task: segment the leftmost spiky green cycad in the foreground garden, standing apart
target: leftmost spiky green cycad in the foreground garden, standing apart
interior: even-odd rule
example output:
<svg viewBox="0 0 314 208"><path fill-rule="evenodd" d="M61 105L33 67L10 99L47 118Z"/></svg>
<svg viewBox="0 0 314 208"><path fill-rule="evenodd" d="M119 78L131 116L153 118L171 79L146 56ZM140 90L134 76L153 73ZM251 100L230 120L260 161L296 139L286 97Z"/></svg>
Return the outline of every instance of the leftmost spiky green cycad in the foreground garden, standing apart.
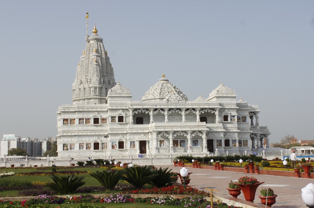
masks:
<svg viewBox="0 0 314 208"><path fill-rule="evenodd" d="M85 184L84 177L77 177L73 174L61 177L51 175L50 177L53 182L47 186L60 195L73 194L75 190Z"/></svg>

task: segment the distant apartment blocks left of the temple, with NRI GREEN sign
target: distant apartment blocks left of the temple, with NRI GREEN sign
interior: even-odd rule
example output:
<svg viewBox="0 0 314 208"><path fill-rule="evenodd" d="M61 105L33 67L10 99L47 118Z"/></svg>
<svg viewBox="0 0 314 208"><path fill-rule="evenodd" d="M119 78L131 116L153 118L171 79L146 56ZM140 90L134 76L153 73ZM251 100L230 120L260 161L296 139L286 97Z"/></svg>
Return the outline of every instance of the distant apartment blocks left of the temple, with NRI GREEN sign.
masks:
<svg viewBox="0 0 314 208"><path fill-rule="evenodd" d="M14 134L13 134L14 135ZM21 148L26 150L28 156L42 156L47 150L51 150L51 145L57 138L48 137L46 139L31 139L30 137L21 138L14 136L14 139L2 140L0 142L0 155L8 155L8 150L11 148Z"/></svg>

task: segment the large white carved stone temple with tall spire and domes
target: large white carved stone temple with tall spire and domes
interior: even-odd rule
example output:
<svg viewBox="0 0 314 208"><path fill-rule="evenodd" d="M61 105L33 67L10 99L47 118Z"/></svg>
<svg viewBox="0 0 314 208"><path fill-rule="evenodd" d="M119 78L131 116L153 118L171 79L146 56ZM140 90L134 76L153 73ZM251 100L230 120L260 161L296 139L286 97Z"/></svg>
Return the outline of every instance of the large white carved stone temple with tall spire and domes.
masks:
<svg viewBox="0 0 314 208"><path fill-rule="evenodd" d="M164 74L140 101L116 83L110 58L97 34L86 47L72 86L73 104L57 111L61 157L172 158L176 155L225 155L269 147L267 126L260 126L257 105L237 100L224 84L209 96L188 100Z"/></svg>

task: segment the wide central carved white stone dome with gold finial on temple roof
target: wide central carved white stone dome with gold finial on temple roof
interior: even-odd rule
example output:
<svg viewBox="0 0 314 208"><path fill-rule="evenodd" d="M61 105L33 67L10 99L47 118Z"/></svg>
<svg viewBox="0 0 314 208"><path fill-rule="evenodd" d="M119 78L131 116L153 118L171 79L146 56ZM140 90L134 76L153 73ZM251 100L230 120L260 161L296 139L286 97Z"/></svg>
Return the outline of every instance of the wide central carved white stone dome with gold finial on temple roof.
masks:
<svg viewBox="0 0 314 208"><path fill-rule="evenodd" d="M159 82L151 86L142 97L142 101L145 100L186 102L188 99L181 89L171 84L169 80L165 78L165 74L162 74L162 78L159 79Z"/></svg>

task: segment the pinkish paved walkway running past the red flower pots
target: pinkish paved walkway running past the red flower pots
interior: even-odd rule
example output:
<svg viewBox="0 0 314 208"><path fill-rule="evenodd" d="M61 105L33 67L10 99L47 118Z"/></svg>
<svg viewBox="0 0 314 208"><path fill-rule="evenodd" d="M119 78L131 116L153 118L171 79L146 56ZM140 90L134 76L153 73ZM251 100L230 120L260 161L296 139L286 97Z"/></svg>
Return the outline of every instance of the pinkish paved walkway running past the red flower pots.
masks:
<svg viewBox="0 0 314 208"><path fill-rule="evenodd" d="M180 172L181 167L174 167L169 165L163 165L162 167L169 167L174 172ZM227 190L230 180L237 181L242 176L254 176L258 181L265 183L257 188L254 202L251 203L244 199L244 195L238 196L238 201L251 205L252 207L262 208L265 207L258 198L262 186L264 188L271 188L274 193L277 194L276 203L272 207L285 207L285 208L306 208L306 204L303 202L301 197L301 189L309 183L314 183L314 179L295 178L295 177L284 177L275 175L260 175L250 173L239 173L225 170L207 170L198 168L187 168L189 172L193 172L190 175L191 182L190 186L198 188L199 190L218 189L218 192L213 192L213 195L222 198L233 200ZM244 170L243 170L244 172Z"/></svg>

